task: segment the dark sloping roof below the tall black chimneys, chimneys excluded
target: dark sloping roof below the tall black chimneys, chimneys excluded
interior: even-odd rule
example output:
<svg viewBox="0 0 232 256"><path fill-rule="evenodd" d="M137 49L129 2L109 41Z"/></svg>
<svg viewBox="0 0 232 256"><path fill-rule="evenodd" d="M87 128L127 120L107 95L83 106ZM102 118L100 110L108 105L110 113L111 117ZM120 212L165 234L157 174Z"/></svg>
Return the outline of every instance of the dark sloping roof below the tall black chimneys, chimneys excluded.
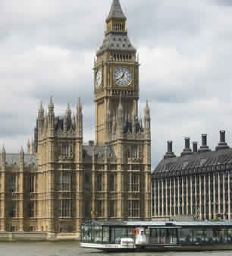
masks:
<svg viewBox="0 0 232 256"><path fill-rule="evenodd" d="M226 164L226 166L225 166ZM223 166L224 165L224 166ZM232 149L194 153L161 160L152 173L152 177L164 175L188 175L190 172L211 171L216 166L230 168L232 166ZM217 167L217 168L218 168Z"/></svg>

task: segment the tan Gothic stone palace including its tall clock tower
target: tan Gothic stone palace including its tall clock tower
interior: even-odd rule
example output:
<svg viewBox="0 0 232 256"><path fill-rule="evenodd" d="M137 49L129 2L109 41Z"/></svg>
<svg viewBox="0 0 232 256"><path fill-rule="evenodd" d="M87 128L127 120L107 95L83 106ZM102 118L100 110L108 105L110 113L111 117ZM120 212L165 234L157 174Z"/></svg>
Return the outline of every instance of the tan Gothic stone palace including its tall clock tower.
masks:
<svg viewBox="0 0 232 256"><path fill-rule="evenodd" d="M139 62L127 18L113 0L94 62L96 142L83 144L82 104L56 116L41 103L31 154L6 154L0 172L0 230L77 232L96 220L149 220L148 103L138 117Z"/></svg>

